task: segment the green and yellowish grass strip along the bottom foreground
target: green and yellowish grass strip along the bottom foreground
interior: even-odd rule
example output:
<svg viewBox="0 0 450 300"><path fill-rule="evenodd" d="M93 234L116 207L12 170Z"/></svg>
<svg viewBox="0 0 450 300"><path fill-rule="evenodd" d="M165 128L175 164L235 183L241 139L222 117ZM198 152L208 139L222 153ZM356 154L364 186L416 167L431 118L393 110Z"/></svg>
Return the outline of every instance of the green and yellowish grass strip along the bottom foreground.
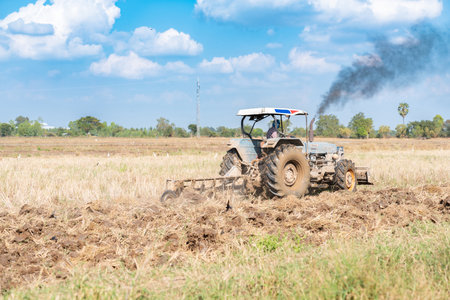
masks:
<svg viewBox="0 0 450 300"><path fill-rule="evenodd" d="M300 236L242 241L214 259L175 266L83 269L66 281L15 289L5 298L447 299L450 224L416 223L321 246Z"/></svg>

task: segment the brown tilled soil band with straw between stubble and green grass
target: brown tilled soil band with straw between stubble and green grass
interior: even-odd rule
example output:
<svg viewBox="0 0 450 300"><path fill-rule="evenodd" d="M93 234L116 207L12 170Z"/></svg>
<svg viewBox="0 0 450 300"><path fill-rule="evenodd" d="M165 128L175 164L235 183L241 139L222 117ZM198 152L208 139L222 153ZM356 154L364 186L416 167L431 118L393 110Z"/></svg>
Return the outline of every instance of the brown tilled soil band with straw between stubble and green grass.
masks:
<svg viewBox="0 0 450 300"><path fill-rule="evenodd" d="M227 205L228 203L228 205ZM415 221L449 222L450 188L322 192L302 199L208 199L187 192L170 205L89 203L0 212L0 290L34 280L65 279L80 265L134 270L214 256L237 240L301 235L320 245Z"/></svg>

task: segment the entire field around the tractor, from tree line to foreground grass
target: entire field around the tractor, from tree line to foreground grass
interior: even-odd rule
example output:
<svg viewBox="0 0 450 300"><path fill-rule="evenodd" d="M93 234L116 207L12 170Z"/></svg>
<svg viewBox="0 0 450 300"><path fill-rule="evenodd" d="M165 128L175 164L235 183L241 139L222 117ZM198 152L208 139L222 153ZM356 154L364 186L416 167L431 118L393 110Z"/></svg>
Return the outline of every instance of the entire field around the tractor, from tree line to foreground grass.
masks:
<svg viewBox="0 0 450 300"><path fill-rule="evenodd" d="M217 176L227 139L1 138L0 290L446 299L450 141L331 141L371 167L374 186L278 200L188 192L163 206L167 178Z"/></svg>

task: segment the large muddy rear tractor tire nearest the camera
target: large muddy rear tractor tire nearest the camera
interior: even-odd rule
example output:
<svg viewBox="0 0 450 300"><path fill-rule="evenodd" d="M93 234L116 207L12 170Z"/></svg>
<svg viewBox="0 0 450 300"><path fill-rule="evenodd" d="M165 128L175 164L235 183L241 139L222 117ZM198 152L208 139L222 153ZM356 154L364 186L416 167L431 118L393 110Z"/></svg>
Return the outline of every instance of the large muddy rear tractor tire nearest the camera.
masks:
<svg viewBox="0 0 450 300"><path fill-rule="evenodd" d="M281 145L260 164L261 179L269 197L302 197L309 187L310 168L305 154L293 145Z"/></svg>

